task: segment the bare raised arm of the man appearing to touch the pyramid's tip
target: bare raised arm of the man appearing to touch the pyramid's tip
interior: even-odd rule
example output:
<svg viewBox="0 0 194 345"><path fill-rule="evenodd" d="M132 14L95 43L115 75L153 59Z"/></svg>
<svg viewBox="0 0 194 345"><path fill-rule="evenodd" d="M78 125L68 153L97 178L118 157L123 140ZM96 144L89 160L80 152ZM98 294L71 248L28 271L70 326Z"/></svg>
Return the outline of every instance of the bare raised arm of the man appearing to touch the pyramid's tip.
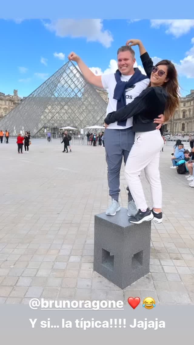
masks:
<svg viewBox="0 0 194 345"><path fill-rule="evenodd" d="M84 78L92 85L103 88L101 76L95 76L94 73L85 65L82 59L73 51L68 55L70 61L77 62Z"/></svg>

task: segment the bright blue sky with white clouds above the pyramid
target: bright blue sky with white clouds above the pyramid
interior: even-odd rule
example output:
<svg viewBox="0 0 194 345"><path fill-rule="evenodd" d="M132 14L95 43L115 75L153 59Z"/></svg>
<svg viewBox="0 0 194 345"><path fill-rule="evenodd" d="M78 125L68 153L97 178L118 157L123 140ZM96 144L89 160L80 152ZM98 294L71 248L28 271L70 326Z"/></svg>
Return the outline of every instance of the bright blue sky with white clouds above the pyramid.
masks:
<svg viewBox="0 0 194 345"><path fill-rule="evenodd" d="M116 51L141 39L154 61L176 64L183 96L194 89L194 20L0 20L0 92L28 96L57 71L71 51L98 74L114 72ZM141 65L135 47L137 65Z"/></svg>

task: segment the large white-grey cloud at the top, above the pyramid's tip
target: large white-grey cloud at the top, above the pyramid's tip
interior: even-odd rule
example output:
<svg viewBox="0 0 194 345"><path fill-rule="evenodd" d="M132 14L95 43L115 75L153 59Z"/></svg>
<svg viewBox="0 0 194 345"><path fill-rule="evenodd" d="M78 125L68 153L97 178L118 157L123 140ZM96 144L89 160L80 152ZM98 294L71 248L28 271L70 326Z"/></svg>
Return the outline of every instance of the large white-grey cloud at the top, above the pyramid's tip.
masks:
<svg viewBox="0 0 194 345"><path fill-rule="evenodd" d="M87 42L100 42L106 48L109 48L113 41L111 32L104 30L102 19L58 19L44 23L44 26L54 31L57 36L84 37Z"/></svg>

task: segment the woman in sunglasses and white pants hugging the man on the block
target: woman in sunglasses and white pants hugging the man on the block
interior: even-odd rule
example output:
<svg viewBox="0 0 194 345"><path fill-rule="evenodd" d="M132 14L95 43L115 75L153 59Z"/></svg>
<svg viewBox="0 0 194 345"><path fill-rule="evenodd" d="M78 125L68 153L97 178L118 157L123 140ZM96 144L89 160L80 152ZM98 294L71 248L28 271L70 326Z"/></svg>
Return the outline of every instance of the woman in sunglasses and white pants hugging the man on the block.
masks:
<svg viewBox="0 0 194 345"><path fill-rule="evenodd" d="M140 40L129 40L126 45L139 46L141 60L150 84L127 106L114 111L105 118L105 124L124 121L133 116L135 142L125 165L125 178L139 211L130 217L131 223L140 224L144 220L162 222L162 186L159 172L160 150L163 139L156 129L153 119L164 114L168 121L178 107L177 72L173 63L162 60L153 66L153 62ZM147 207L140 180L141 170L150 184L153 209Z"/></svg>

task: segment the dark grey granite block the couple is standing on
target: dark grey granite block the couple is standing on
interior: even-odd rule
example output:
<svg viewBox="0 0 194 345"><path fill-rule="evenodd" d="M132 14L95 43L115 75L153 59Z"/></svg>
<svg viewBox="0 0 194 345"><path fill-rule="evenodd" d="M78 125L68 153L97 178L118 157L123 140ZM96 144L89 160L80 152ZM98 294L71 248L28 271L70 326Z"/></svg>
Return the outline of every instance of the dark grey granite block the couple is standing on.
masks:
<svg viewBox="0 0 194 345"><path fill-rule="evenodd" d="M124 289L150 272L151 221L129 223L127 210L95 215L94 270Z"/></svg>

